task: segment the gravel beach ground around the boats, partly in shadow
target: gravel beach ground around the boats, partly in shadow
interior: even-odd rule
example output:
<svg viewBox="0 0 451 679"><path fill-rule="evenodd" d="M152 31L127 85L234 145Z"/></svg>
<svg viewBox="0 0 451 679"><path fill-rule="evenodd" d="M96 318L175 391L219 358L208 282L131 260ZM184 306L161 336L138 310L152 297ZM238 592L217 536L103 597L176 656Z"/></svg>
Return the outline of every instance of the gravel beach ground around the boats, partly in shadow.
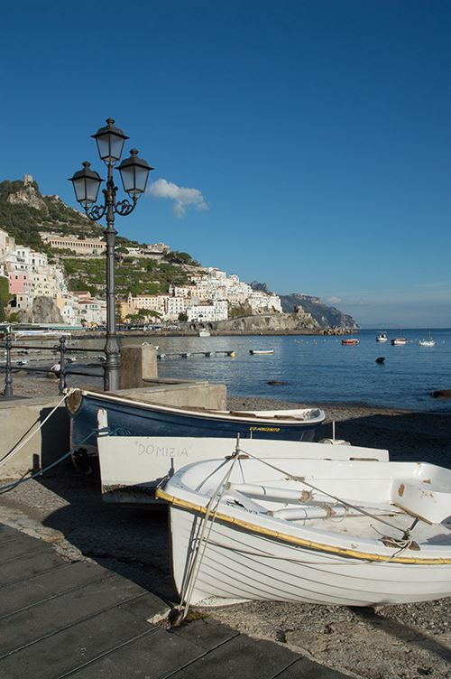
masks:
<svg viewBox="0 0 451 679"><path fill-rule="evenodd" d="M14 394L56 396L58 385L45 378L14 376ZM229 398L228 406L290 409L300 404ZM327 423L317 439L331 437L335 421L336 438L388 448L391 460L451 465L447 415L323 407ZM177 600L170 577L166 511L103 503L98 479L80 476L70 464L0 491L0 522L44 535L64 558L92 559L168 602ZM451 679L451 598L377 610L253 601L206 612L245 634L288 645L351 676Z"/></svg>

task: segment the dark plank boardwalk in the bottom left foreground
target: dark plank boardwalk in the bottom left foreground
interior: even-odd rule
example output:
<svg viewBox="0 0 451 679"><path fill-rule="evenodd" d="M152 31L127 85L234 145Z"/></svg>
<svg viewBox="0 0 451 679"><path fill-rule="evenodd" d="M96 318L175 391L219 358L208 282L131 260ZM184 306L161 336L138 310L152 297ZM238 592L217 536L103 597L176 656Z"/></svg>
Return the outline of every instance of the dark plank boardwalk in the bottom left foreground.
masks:
<svg viewBox="0 0 451 679"><path fill-rule="evenodd" d="M0 524L2 679L345 679L214 619L167 631L163 600Z"/></svg>

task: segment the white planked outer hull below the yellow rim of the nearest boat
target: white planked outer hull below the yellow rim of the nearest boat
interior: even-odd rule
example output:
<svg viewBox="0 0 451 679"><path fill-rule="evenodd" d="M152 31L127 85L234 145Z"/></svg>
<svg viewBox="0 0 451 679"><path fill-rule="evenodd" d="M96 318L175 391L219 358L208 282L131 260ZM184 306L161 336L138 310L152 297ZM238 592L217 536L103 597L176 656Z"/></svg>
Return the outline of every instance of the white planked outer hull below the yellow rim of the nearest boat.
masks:
<svg viewBox="0 0 451 679"><path fill-rule="evenodd" d="M192 510L170 507L172 551L178 555L173 575L179 593L200 526L200 516ZM273 600L382 606L441 599L450 593L449 563L364 563L286 544L216 519L191 603L215 605L219 598L220 605L235 600Z"/></svg>

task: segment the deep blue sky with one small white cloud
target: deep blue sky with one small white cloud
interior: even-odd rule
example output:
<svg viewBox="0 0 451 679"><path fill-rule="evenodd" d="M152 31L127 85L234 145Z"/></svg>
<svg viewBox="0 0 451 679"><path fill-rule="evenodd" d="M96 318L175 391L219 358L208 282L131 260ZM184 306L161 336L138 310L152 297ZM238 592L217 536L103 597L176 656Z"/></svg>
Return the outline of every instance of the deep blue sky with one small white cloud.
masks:
<svg viewBox="0 0 451 679"><path fill-rule="evenodd" d="M0 181L77 207L113 117L155 168L120 235L363 326L451 327L450 29L447 0L9 3Z"/></svg>

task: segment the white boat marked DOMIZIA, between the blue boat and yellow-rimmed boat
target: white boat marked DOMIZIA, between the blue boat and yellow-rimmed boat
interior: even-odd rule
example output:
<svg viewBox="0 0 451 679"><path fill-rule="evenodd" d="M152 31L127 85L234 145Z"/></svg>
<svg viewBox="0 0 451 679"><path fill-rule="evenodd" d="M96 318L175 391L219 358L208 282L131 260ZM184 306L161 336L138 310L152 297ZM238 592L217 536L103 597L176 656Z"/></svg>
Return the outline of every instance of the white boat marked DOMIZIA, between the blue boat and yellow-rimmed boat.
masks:
<svg viewBox="0 0 451 679"><path fill-rule="evenodd" d="M98 411L97 421L98 428L106 430L106 410ZM389 459L388 451L350 446L336 439L325 439L324 443L245 439L245 444L246 451L259 458ZM106 502L147 504L155 502L155 490L163 479L170 479L187 464L210 460L213 455L221 458L233 455L235 440L121 436L106 430L97 437L97 450L102 498Z"/></svg>

